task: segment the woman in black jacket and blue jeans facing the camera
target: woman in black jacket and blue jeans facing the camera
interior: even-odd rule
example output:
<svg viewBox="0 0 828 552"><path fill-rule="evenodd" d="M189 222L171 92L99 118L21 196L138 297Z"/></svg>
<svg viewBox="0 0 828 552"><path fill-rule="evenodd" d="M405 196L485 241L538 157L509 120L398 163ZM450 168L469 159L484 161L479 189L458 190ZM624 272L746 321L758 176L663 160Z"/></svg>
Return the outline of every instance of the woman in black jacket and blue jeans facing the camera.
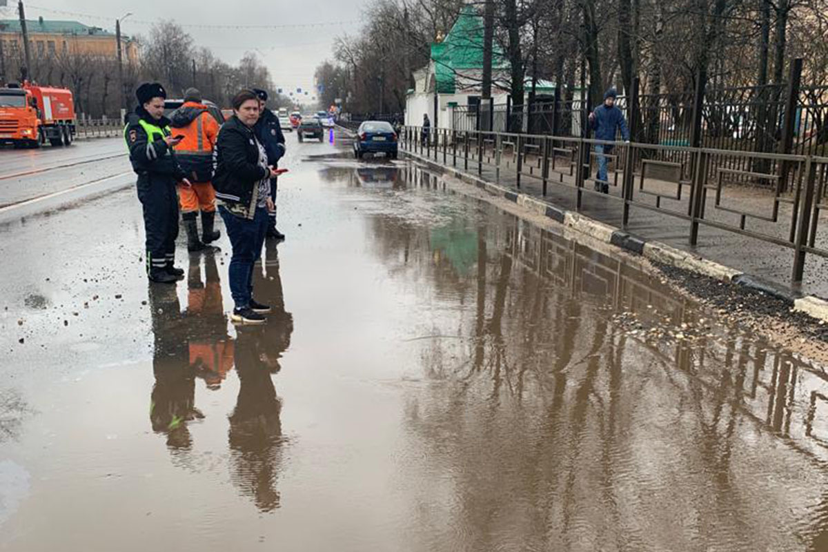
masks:
<svg viewBox="0 0 828 552"><path fill-rule="evenodd" d="M267 213L274 209L270 179L277 176L267 165L267 152L256 139L258 97L242 90L233 98L233 117L222 125L213 151L215 196L230 243L229 281L235 308L230 319L239 324L262 324L268 305L253 300L253 265L262 254Z"/></svg>

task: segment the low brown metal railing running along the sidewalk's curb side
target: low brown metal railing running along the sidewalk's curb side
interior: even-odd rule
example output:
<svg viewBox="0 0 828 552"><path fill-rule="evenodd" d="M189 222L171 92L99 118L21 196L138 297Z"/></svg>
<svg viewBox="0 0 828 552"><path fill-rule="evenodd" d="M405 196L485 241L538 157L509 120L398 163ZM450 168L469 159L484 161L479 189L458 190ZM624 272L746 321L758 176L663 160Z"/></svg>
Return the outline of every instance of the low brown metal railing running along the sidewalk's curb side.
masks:
<svg viewBox="0 0 828 552"><path fill-rule="evenodd" d="M578 210L585 194L599 194L616 202L624 228L636 207L686 221L694 246L700 228L717 228L787 248L794 282L802 281L806 254L828 258L826 156L421 127L406 127L402 143L541 196L549 186L571 190ZM606 182L594 176L598 145L612 148Z"/></svg>

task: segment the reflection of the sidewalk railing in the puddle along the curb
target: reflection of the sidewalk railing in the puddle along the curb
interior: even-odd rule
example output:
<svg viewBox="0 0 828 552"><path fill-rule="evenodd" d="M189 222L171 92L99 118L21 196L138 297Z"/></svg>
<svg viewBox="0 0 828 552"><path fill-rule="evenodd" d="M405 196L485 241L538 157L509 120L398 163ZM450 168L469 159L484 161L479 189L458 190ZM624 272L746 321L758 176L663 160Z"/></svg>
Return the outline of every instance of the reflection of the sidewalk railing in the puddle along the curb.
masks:
<svg viewBox="0 0 828 552"><path fill-rule="evenodd" d="M645 328L658 316L676 327L704 326L700 319L713 322L716 316L633 266L531 224L518 223L506 239L517 266L566 287L576 298L591 296L617 313L637 314ZM731 409L782 435L792 449L828 461L828 376L739 329L707 331L712 337L697 341L642 343Z"/></svg>

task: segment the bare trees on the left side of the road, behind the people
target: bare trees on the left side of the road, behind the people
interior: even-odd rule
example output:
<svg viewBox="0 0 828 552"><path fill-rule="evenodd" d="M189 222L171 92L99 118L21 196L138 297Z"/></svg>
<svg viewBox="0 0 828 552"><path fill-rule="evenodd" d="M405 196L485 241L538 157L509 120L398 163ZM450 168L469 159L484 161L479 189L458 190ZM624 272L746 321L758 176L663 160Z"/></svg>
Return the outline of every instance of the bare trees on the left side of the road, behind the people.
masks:
<svg viewBox="0 0 828 552"><path fill-rule="evenodd" d="M123 60L123 91L118 90L118 60L111 56L64 51L32 55L30 74L36 82L65 86L75 94L75 108L91 118L117 117L123 105L134 107L138 84L156 80L168 94L181 97L190 86L219 106L230 105L238 89L257 87L275 92L262 60L246 53L237 65L219 60L209 48L197 46L175 22L159 22L146 37L137 37L137 62ZM33 52L35 54L35 52ZM7 78L19 75L22 51L4 52ZM271 94L271 108L291 105L290 98Z"/></svg>

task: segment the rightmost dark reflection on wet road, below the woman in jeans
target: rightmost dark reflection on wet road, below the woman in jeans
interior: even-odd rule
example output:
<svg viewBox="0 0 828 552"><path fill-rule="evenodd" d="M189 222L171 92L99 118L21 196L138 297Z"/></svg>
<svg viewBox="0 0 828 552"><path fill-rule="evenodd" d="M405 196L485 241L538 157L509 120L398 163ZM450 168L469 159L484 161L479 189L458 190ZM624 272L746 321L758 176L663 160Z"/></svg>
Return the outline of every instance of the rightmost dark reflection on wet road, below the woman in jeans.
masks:
<svg viewBox="0 0 828 552"><path fill-rule="evenodd" d="M279 372L279 359L290 345L293 319L285 312L282 280L275 243L265 242L264 269L253 276L262 297L272 305L267 324L237 327L236 373L241 382L238 400L230 415L229 446L231 480L262 511L279 507L277 478L282 463L282 401L272 375Z"/></svg>

